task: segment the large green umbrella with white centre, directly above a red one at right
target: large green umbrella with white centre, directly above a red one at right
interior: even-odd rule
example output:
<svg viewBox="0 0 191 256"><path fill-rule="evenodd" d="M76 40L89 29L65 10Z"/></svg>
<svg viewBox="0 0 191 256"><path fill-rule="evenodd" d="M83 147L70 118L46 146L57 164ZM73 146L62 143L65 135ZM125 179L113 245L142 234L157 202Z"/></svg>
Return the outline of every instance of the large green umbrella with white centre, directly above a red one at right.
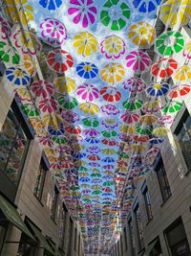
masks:
<svg viewBox="0 0 191 256"><path fill-rule="evenodd" d="M156 48L162 56L177 54L183 49L183 46L184 39L180 32L167 31L159 35L156 40Z"/></svg>

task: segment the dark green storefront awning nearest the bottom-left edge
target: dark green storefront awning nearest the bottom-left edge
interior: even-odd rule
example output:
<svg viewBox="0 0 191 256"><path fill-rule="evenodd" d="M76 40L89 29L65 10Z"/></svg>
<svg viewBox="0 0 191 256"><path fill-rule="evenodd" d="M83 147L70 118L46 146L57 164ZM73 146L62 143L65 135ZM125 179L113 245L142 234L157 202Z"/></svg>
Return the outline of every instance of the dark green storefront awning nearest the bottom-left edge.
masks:
<svg viewBox="0 0 191 256"><path fill-rule="evenodd" d="M22 232L24 232L33 241L35 241L34 238L32 237L32 233L28 229L25 222L21 219L16 208L13 205L11 205L11 203L6 198L2 197L1 195L0 195L0 209L3 212L3 214L5 215L6 219L8 219L8 221L11 221L11 223L14 226L16 226Z"/></svg>

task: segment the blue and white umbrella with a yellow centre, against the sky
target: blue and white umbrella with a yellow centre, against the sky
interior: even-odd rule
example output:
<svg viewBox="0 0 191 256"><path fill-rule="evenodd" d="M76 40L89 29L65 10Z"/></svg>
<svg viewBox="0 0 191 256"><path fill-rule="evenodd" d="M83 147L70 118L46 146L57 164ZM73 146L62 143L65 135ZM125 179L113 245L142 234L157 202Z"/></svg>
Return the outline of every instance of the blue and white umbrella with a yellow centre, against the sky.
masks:
<svg viewBox="0 0 191 256"><path fill-rule="evenodd" d="M94 63L81 62L76 66L77 75L83 79L94 79L98 75L98 69Z"/></svg>

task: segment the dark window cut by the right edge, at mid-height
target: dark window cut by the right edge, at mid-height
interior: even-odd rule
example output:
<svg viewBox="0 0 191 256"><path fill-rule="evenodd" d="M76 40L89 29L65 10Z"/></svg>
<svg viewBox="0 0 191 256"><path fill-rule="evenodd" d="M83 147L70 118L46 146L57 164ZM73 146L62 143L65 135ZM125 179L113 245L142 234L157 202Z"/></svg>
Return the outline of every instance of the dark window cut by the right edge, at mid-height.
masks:
<svg viewBox="0 0 191 256"><path fill-rule="evenodd" d="M180 149L187 165L191 169L191 116L186 109L180 119L180 124L175 130Z"/></svg>

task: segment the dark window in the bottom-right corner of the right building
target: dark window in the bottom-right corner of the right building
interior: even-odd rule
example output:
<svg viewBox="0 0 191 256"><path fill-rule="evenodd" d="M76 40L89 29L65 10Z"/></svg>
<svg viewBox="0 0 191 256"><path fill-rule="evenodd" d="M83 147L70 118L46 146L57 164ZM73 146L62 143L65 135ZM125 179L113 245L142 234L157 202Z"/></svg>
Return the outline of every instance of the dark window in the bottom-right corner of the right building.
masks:
<svg viewBox="0 0 191 256"><path fill-rule="evenodd" d="M170 225L165 231L166 239L173 256L191 256L185 229L181 219Z"/></svg>

